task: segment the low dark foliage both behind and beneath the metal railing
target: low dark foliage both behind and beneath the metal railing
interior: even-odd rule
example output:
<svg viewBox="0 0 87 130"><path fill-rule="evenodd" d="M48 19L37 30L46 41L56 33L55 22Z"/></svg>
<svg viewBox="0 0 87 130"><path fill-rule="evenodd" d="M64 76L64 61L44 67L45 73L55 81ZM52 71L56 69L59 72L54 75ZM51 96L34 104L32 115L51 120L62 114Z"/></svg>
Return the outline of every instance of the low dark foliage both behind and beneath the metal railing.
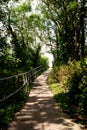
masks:
<svg viewBox="0 0 87 130"><path fill-rule="evenodd" d="M43 61L43 60L42 60ZM44 60L46 62L46 60ZM26 99L28 98L29 92L32 88L32 79L36 78L39 74L47 69L47 64L44 64L44 68L42 71L39 71L35 75L34 72L31 73L31 79L29 79L29 83L24 86L24 78L25 75L15 75L7 80L0 80L0 99L3 99L4 96L8 97L8 95L13 94L15 91L18 91L21 87L23 87L19 92L13 95L11 98L6 99L5 101L0 103L0 127L7 126L8 123L12 120L14 113L18 111L21 106L24 104ZM34 77L35 76L35 77ZM30 78L28 74L28 78ZM3 91L4 90L4 91Z"/></svg>

